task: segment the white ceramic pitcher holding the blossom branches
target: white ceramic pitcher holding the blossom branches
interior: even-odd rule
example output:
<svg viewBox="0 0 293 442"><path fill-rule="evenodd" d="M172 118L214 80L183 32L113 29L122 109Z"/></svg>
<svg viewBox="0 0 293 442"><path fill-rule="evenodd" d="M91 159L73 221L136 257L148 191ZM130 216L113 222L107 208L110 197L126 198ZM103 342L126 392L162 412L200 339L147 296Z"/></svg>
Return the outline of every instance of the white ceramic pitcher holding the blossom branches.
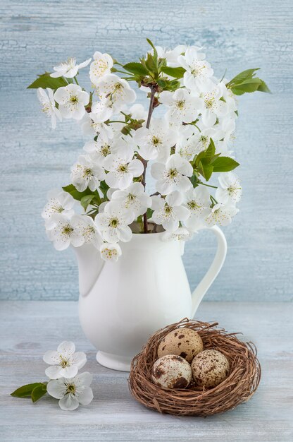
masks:
<svg viewBox="0 0 293 442"><path fill-rule="evenodd" d="M225 261L227 243L218 227L216 256L191 294L182 263L182 241L162 241L162 233L133 234L122 243L116 263L104 262L91 244L75 248L79 266L82 330L99 350L96 360L129 371L132 358L159 328L193 318Z"/></svg>

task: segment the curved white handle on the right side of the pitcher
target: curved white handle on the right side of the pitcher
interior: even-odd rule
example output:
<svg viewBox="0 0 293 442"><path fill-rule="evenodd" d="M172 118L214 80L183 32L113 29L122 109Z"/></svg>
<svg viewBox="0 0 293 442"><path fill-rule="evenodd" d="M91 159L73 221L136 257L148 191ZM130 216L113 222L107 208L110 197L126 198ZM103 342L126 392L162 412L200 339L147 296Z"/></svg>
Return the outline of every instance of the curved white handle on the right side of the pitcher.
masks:
<svg viewBox="0 0 293 442"><path fill-rule="evenodd" d="M204 295L213 284L213 281L216 280L220 269L223 267L227 253L227 241L222 230L218 226L208 227L208 229L216 235L218 248L216 251L216 256L213 258L211 267L208 269L206 275L204 275L201 282L199 282L199 285L192 293L192 318L197 311L201 299L203 299Z"/></svg>

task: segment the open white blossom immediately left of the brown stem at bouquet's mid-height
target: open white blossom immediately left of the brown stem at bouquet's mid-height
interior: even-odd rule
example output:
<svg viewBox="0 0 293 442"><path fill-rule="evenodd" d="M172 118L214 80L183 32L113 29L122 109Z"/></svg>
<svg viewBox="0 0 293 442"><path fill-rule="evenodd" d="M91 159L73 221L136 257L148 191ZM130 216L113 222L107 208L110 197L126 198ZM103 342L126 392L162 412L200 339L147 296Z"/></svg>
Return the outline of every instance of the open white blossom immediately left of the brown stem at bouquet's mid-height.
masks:
<svg viewBox="0 0 293 442"><path fill-rule="evenodd" d="M133 150L121 148L115 155L110 154L104 160L104 167L108 171L105 181L114 189L126 189L134 177L139 177L144 171L140 160L133 160Z"/></svg>

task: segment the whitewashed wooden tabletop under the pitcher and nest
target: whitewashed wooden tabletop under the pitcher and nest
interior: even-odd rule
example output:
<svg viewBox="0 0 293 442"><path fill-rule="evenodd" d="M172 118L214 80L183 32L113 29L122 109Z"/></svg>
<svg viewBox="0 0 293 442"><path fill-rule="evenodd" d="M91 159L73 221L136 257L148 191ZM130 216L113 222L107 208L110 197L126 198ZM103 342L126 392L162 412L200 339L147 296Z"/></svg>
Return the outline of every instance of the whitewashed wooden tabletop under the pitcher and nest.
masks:
<svg viewBox="0 0 293 442"><path fill-rule="evenodd" d="M197 318L242 331L258 347L263 376L256 395L235 410L208 418L161 415L137 403L127 374L95 362L77 318L77 303L2 301L0 304L1 441L292 441L293 306L282 303L201 304ZM42 355L62 340L87 353L94 400L63 412L49 396L37 404L11 398L18 386L45 381Z"/></svg>

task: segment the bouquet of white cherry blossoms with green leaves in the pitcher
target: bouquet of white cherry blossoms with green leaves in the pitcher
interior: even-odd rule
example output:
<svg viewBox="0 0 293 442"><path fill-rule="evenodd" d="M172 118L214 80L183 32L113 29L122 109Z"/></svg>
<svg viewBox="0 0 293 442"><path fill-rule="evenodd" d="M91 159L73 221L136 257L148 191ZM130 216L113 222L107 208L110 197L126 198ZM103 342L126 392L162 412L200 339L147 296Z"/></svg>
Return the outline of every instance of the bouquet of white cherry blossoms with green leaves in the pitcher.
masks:
<svg viewBox="0 0 293 442"><path fill-rule="evenodd" d="M134 233L185 241L205 226L229 224L238 212L242 188L231 150L237 95L270 92L266 83L257 69L219 80L202 47L169 50L148 42L138 62L120 64L95 52L93 61L68 59L29 86L37 88L53 128L74 119L89 136L71 167L71 184L51 191L42 213L57 250L89 242L116 261L119 242ZM93 90L87 92L77 75L89 64ZM145 92L148 110L135 104L130 83ZM155 181L151 194L147 167ZM217 186L208 184L214 173ZM75 213L76 201L83 213Z"/></svg>

